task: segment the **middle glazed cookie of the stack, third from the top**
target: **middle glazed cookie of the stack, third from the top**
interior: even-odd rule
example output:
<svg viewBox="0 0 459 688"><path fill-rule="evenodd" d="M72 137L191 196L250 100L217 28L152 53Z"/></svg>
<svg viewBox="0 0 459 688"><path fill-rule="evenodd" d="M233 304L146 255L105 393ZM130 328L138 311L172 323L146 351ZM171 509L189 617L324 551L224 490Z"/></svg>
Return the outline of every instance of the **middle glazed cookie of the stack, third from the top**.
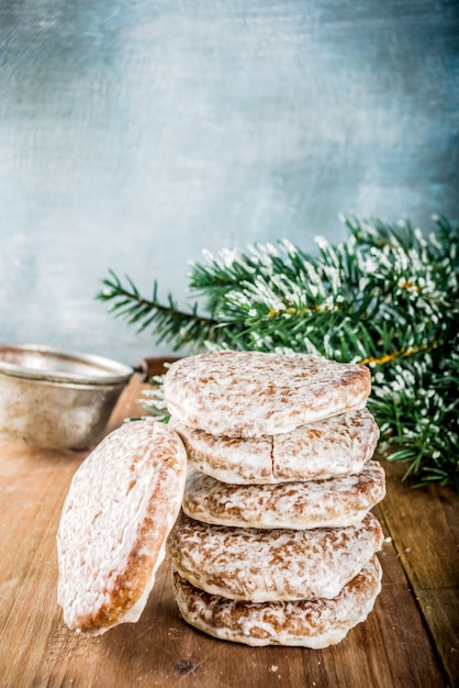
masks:
<svg viewBox="0 0 459 688"><path fill-rule="evenodd" d="M216 525L340 528L361 521L384 497L385 474L374 460L349 476L275 485L229 485L190 468L183 511Z"/></svg>

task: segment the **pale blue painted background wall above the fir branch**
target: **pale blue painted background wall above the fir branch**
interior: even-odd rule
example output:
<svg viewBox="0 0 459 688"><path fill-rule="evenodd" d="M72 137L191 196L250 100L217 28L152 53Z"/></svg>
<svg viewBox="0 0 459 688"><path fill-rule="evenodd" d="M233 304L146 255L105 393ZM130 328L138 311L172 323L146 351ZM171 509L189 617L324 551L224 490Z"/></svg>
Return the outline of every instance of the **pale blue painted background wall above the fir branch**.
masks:
<svg viewBox="0 0 459 688"><path fill-rule="evenodd" d="M165 353L94 300L339 212L459 219L459 4L0 1L0 340Z"/></svg>

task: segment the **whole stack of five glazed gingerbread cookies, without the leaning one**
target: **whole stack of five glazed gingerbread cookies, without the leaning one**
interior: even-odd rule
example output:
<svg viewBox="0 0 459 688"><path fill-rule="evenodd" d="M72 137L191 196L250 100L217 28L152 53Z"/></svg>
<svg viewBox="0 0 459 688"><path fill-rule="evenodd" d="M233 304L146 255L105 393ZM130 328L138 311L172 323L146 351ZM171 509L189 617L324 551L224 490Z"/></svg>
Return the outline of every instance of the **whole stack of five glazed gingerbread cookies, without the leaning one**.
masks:
<svg viewBox="0 0 459 688"><path fill-rule="evenodd" d="M164 393L189 464L168 540L183 619L248 645L343 640L381 589L369 370L209 353L172 364Z"/></svg>

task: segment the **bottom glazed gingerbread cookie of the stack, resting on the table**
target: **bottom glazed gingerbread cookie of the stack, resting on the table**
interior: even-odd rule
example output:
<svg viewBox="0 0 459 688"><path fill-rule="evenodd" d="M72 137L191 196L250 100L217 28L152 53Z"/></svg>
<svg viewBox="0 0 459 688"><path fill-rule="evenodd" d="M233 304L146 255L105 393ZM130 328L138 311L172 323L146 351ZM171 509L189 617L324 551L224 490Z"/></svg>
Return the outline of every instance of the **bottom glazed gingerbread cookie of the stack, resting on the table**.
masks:
<svg viewBox="0 0 459 688"><path fill-rule="evenodd" d="M339 643L366 621L381 591L374 556L332 600L242 602L210 595L177 572L173 591L184 621L200 631L246 645L292 645L320 650Z"/></svg>

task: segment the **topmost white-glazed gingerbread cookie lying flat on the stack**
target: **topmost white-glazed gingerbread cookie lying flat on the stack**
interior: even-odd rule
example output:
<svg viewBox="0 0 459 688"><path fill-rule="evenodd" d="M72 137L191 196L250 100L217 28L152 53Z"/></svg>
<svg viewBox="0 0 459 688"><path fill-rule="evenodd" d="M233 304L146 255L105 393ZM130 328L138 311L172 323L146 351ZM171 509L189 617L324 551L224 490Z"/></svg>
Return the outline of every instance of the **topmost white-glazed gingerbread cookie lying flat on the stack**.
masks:
<svg viewBox="0 0 459 688"><path fill-rule="evenodd" d="M309 354L217 352L173 363L164 379L171 415L213 435L259 437L365 407L370 373Z"/></svg>

